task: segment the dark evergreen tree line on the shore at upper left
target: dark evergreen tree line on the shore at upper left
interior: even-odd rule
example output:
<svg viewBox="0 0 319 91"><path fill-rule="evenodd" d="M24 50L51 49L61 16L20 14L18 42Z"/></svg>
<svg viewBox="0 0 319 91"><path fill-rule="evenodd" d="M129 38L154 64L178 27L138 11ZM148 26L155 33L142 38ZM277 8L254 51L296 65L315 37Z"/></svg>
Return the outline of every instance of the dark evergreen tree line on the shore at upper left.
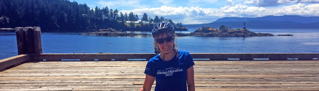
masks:
<svg viewBox="0 0 319 91"><path fill-rule="evenodd" d="M174 24L171 19L144 13L141 22L133 12L119 13L117 9L95 7L69 0L1 0L0 27L41 27L43 32L93 32L113 28L122 31L150 31L161 21L169 21L177 31L186 29L182 22ZM131 21L126 23L127 21ZM187 29L186 29L187 31Z"/></svg>

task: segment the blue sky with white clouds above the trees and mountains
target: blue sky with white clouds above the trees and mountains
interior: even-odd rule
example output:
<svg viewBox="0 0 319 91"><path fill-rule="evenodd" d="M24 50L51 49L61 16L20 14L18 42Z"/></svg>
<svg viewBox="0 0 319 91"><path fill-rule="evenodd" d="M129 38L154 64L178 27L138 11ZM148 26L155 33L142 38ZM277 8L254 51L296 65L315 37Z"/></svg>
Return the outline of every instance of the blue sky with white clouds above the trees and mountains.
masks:
<svg viewBox="0 0 319 91"><path fill-rule="evenodd" d="M319 0L74 0L90 8L118 9L142 18L163 16L174 22L202 24L222 17L266 15L319 16Z"/></svg>

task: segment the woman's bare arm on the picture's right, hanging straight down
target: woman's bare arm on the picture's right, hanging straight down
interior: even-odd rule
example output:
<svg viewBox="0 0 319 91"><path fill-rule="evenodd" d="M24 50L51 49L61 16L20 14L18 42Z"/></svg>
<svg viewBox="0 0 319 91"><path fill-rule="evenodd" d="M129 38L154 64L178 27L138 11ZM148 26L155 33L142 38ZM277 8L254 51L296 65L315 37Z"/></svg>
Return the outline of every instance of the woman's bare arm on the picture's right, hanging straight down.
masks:
<svg viewBox="0 0 319 91"><path fill-rule="evenodd" d="M187 86L188 91L195 91L195 82L194 82L194 67L190 67L187 69Z"/></svg>

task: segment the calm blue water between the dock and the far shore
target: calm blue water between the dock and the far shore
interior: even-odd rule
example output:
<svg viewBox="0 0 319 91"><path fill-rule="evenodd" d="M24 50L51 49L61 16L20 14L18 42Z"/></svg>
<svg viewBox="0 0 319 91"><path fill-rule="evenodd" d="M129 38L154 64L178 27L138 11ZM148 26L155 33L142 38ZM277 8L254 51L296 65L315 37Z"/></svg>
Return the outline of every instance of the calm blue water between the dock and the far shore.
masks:
<svg viewBox="0 0 319 91"><path fill-rule="evenodd" d="M178 33L190 33L182 31ZM178 37L178 50L190 53L318 53L319 30L261 30L256 33L292 34L267 37ZM148 33L149 32L134 32ZM15 33L0 33L0 59L18 55ZM154 53L151 36L105 37L76 33L41 33L43 53ZM110 43L110 44L108 44Z"/></svg>

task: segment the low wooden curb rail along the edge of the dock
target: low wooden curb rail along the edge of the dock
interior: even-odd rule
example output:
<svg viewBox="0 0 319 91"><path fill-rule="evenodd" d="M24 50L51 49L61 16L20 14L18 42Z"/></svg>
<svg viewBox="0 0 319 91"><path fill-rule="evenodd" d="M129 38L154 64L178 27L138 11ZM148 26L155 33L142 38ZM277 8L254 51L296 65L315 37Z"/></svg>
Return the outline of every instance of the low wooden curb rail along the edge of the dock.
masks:
<svg viewBox="0 0 319 91"><path fill-rule="evenodd" d="M194 60L318 60L319 53L190 53ZM26 62L147 61L155 53L140 54L23 54L0 60L0 71Z"/></svg>

